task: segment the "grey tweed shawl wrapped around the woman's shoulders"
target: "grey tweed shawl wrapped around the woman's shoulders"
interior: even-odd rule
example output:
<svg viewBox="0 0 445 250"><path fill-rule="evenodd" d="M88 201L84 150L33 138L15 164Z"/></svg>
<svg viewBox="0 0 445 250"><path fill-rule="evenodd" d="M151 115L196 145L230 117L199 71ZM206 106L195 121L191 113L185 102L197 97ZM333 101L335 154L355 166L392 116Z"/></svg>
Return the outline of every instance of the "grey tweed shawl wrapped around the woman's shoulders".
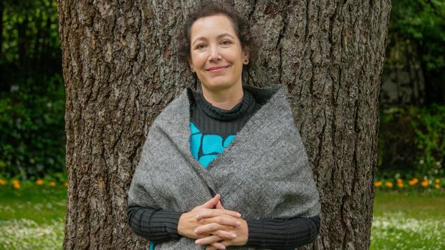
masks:
<svg viewBox="0 0 445 250"><path fill-rule="evenodd" d="M168 104L149 129L129 189L130 205L185 212L221 194L224 208L244 219L319 214L319 194L286 88L243 88L263 105L207 168L190 152L191 88ZM163 249L205 247L180 237L156 244L156 250Z"/></svg>

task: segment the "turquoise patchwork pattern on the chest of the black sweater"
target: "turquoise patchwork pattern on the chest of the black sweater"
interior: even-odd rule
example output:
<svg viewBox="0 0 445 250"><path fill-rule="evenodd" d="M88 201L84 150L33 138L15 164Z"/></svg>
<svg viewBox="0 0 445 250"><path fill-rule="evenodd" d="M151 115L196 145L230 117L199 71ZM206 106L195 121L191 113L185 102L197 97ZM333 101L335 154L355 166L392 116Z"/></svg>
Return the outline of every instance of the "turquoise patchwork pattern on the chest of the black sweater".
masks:
<svg viewBox="0 0 445 250"><path fill-rule="evenodd" d="M194 123L190 123L190 132L191 155L205 168L235 139L235 134L227 136L226 139L219 134L203 134ZM202 150L203 155L199 155L199 150Z"/></svg>

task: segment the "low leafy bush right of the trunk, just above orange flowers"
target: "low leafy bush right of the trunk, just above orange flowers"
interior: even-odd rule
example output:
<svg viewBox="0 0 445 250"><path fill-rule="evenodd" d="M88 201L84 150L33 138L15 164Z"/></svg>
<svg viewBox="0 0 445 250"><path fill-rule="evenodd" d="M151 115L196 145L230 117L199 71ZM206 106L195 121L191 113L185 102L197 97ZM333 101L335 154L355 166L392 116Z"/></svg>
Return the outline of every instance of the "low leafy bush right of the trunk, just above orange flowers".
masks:
<svg viewBox="0 0 445 250"><path fill-rule="evenodd" d="M445 106L386 109L380 117L380 178L444 175Z"/></svg>

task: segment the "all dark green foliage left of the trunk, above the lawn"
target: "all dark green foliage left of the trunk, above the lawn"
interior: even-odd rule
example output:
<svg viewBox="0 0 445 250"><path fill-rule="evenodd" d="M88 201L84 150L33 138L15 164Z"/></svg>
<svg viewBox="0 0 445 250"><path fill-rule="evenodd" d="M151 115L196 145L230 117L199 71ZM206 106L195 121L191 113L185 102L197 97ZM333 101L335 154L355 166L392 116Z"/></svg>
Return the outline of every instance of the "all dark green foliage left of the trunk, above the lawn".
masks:
<svg viewBox="0 0 445 250"><path fill-rule="evenodd" d="M0 2L0 177L64 171L56 1Z"/></svg>

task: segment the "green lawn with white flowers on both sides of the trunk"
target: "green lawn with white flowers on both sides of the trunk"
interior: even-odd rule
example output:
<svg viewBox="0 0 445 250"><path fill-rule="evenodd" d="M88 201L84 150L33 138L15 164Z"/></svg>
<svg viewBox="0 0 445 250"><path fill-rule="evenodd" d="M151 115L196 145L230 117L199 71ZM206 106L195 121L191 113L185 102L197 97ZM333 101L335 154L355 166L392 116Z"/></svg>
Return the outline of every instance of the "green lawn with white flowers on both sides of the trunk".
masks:
<svg viewBox="0 0 445 250"><path fill-rule="evenodd" d="M371 249L445 249L445 194L377 192ZM0 249L61 249L66 189L0 187Z"/></svg>

